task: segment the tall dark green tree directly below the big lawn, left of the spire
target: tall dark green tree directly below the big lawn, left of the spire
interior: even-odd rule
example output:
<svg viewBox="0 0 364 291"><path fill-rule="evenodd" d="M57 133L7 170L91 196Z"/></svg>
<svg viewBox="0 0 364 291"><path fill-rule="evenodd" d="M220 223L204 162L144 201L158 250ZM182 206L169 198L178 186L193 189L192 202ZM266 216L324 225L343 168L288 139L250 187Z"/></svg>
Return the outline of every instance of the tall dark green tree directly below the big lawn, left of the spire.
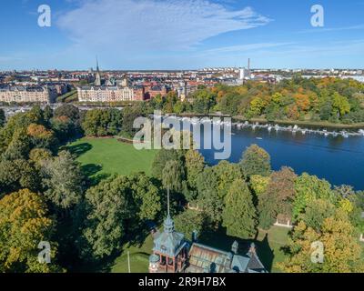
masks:
<svg viewBox="0 0 364 291"><path fill-rule="evenodd" d="M86 221L79 243L81 256L100 259L110 256L120 246L126 219L132 211L128 188L128 179L118 176L103 180L86 191L83 206Z"/></svg>

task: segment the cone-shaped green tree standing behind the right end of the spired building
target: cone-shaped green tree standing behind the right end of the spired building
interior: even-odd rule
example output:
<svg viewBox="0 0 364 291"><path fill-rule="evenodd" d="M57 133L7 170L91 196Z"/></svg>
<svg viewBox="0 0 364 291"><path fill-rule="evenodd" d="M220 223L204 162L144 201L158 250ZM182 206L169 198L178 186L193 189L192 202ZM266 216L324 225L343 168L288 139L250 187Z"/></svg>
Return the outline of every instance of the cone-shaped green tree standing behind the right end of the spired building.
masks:
<svg viewBox="0 0 364 291"><path fill-rule="evenodd" d="M256 233L257 213L248 185L235 180L225 197L222 225L227 227L228 236L251 238Z"/></svg>

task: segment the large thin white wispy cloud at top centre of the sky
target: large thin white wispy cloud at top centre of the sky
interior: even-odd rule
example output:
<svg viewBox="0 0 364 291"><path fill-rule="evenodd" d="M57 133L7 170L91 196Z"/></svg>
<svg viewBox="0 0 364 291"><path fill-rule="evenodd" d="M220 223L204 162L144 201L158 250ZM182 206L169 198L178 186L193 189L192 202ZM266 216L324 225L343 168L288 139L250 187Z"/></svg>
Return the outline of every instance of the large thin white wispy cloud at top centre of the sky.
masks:
<svg viewBox="0 0 364 291"><path fill-rule="evenodd" d="M92 0L58 17L78 45L93 50L183 50L223 33L267 25L252 8L211 0Z"/></svg>

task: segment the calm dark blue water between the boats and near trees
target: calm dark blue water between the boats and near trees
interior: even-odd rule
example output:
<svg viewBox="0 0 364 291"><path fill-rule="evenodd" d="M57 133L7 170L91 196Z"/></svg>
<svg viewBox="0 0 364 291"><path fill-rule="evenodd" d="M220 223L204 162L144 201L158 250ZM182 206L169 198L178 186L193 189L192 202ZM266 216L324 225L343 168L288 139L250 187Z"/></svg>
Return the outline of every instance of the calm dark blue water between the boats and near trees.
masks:
<svg viewBox="0 0 364 291"><path fill-rule="evenodd" d="M274 170L292 167L297 174L307 172L333 185L351 185L364 190L364 137L325 137L291 132L270 133L267 129L232 129L230 162L237 163L248 146L257 144L271 156ZM214 150L200 151L208 164L216 165Z"/></svg>

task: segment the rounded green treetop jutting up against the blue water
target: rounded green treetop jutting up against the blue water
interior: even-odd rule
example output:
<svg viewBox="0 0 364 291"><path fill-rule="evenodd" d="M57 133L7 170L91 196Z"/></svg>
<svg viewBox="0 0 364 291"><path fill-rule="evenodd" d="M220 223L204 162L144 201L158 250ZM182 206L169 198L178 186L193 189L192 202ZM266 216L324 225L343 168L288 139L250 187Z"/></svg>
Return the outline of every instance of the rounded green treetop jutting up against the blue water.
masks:
<svg viewBox="0 0 364 291"><path fill-rule="evenodd" d="M257 145L249 146L240 160L243 174L247 177L253 175L269 176L271 172L270 156Z"/></svg>

